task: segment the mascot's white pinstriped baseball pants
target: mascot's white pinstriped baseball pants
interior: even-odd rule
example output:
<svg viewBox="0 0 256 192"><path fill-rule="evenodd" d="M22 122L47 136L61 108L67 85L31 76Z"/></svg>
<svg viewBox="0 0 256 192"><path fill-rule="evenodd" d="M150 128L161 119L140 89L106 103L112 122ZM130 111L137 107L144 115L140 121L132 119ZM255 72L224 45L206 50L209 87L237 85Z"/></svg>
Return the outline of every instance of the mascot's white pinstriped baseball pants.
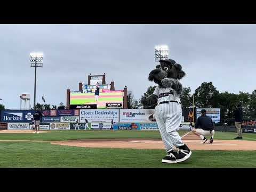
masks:
<svg viewBox="0 0 256 192"><path fill-rule="evenodd" d="M177 102L158 104L155 108L155 118L167 152L175 147L183 146L178 127L181 123L182 109Z"/></svg>

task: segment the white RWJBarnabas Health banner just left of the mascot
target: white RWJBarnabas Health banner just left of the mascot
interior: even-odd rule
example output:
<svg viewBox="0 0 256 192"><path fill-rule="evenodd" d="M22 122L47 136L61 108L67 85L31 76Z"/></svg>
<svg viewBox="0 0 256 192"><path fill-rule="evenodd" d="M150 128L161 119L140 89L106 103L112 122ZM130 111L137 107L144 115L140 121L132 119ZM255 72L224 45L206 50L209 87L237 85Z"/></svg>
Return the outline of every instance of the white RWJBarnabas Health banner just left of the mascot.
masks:
<svg viewBox="0 0 256 192"><path fill-rule="evenodd" d="M149 116L154 113L155 109L120 109L121 123L150 123Z"/></svg>

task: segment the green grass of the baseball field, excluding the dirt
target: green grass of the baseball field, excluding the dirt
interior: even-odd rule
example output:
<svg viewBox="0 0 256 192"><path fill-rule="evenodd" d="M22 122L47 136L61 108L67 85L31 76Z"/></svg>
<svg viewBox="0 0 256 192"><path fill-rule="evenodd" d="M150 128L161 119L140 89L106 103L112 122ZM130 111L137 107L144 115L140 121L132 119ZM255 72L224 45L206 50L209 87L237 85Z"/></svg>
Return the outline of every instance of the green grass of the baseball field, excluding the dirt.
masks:
<svg viewBox="0 0 256 192"><path fill-rule="evenodd" d="M183 132L180 132L183 134ZM236 133L216 132L215 139L233 139ZM256 134L244 133L245 140ZM68 140L88 138L161 138L158 131L53 131L0 133L0 140ZM256 151L193 150L188 161L163 164L165 150L84 148L50 142L0 142L0 167L256 167Z"/></svg>

